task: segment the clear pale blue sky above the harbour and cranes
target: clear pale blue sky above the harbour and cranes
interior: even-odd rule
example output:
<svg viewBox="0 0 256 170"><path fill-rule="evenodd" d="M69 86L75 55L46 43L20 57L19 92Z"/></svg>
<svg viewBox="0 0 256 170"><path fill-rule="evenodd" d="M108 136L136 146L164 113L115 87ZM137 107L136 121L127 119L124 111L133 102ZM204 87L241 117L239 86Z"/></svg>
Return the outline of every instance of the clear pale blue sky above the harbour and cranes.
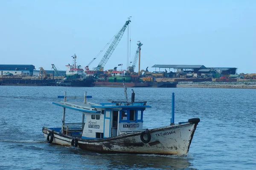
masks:
<svg viewBox="0 0 256 170"><path fill-rule="evenodd" d="M76 53L87 66L129 16L131 57L143 43L140 69L195 64L256 73L256 0L0 0L0 64L66 70ZM127 30L105 70L125 69L126 61Z"/></svg>

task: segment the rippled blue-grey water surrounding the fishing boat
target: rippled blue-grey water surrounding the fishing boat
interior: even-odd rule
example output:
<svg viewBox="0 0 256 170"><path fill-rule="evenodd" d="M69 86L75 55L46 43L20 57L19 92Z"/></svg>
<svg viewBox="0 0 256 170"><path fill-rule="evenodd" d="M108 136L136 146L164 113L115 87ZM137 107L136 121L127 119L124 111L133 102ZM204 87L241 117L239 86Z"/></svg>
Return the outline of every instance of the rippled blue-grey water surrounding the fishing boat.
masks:
<svg viewBox="0 0 256 170"><path fill-rule="evenodd" d="M256 90L134 88L148 101L144 127L168 125L175 92L175 123L201 118L185 157L99 154L45 142L42 127L60 127L57 95L92 95L91 102L125 100L123 88L0 86L0 170L213 170L256 168ZM131 88L128 88L131 97ZM67 120L80 120L70 112Z"/></svg>

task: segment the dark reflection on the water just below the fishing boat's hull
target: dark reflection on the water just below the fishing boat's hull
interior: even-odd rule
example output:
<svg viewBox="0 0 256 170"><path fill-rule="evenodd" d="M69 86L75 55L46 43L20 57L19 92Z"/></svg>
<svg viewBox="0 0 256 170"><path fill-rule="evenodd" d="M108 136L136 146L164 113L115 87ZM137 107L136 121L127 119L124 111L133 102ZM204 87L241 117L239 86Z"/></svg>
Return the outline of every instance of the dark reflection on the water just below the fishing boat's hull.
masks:
<svg viewBox="0 0 256 170"><path fill-rule="evenodd" d="M133 154L99 154L84 150L72 150L71 152L84 155L87 158L100 158L99 161L105 162L106 169L147 169L157 168L165 170L195 170L188 168L191 166L187 156L161 156L161 155L133 155ZM89 161L89 160L87 160Z"/></svg>

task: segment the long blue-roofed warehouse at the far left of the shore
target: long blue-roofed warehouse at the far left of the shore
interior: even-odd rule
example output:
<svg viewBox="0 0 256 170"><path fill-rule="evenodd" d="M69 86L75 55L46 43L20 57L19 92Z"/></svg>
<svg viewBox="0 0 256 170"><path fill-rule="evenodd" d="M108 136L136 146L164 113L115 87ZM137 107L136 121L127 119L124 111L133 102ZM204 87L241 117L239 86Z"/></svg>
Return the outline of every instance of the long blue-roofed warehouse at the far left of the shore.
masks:
<svg viewBox="0 0 256 170"><path fill-rule="evenodd" d="M0 75L33 75L33 65L0 64Z"/></svg>

